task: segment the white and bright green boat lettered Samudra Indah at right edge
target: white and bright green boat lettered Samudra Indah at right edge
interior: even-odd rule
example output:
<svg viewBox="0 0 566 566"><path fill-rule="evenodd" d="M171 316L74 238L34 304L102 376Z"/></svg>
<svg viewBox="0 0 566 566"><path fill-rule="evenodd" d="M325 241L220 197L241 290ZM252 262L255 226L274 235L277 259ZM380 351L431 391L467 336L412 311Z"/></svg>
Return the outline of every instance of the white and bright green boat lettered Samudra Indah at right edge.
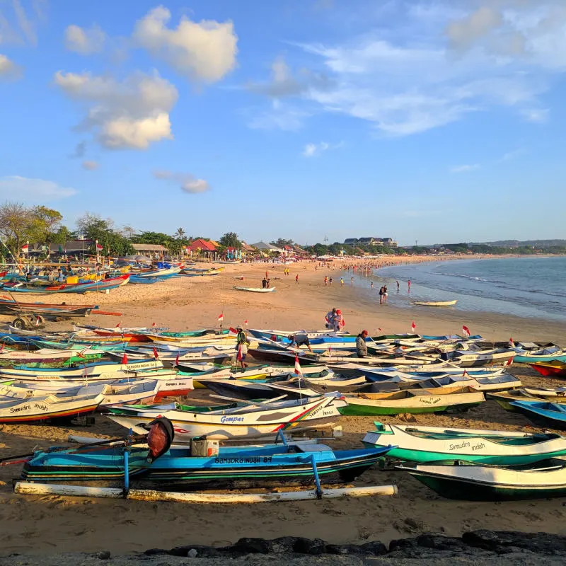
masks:
<svg viewBox="0 0 566 566"><path fill-rule="evenodd" d="M391 445L388 457L403 461L455 459L511 466L566 456L566 438L559 434L374 424L376 429L362 439L364 446Z"/></svg>

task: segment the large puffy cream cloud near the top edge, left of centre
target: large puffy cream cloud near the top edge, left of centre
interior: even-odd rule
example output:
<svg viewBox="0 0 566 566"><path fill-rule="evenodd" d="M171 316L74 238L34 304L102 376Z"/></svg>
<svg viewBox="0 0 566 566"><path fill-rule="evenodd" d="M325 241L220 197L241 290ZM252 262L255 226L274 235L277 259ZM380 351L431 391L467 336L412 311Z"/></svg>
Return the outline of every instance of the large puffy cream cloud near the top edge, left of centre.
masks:
<svg viewBox="0 0 566 566"><path fill-rule="evenodd" d="M134 42L195 81L214 83L236 67L238 36L231 21L195 23L183 16L177 28L168 28L170 19L163 6L149 11L136 23Z"/></svg>

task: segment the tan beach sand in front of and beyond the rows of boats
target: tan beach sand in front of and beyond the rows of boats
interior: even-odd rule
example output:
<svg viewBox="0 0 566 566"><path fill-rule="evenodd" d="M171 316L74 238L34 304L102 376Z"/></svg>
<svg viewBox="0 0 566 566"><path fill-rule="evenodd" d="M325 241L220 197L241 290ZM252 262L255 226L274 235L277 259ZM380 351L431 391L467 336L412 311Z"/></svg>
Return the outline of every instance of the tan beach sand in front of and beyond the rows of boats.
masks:
<svg viewBox="0 0 566 566"><path fill-rule="evenodd" d="M248 320L250 328L323 328L325 313L340 308L346 328L358 333L362 328L371 335L407 333L412 320L421 334L461 333L466 324L473 334L486 340L564 342L564 328L544 320L522 319L492 313L463 313L454 309L395 308L379 305L376 284L369 292L349 284L340 287L339 270L315 272L314 264L284 267L271 264L229 265L216 277L183 277L155 285L127 285L110 294L86 296L37 296L21 300L99 304L101 310L121 311L120 318L91 316L86 323L113 327L168 326L187 330L216 326L224 313L224 328ZM236 291L234 284L260 287L269 271L272 294ZM299 283L295 275L299 274ZM324 275L332 275L333 287L325 287ZM243 281L234 277L244 277ZM369 287L369 282L368 282ZM406 284L401 291L406 293ZM19 299L19 297L18 297ZM6 319L7 320L7 319ZM67 323L47 328L69 328ZM381 328L381 331L377 329ZM558 381L542 378L528 366L513 366L516 374L531 385L555 386ZM403 417L383 417L383 422L407 422ZM505 412L487 401L462 415L415 415L410 422L446 427L533 430L526 418ZM344 437L331 446L361 447L360 439L373 428L371 417L342 417ZM0 457L24 454L35 447L64 443L69 434L121 436L125 429L102 415L93 427L52 427L46 425L1 424ZM424 531L459 535L470 529L545 531L566 534L566 507L561 499L535 502L475 503L443 499L409 475L399 472L369 470L356 485L398 485L395 497L332 499L321 501L256 504L194 505L145 503L112 499L73 497L23 497L13 494L11 479L17 478L21 465L0 468L0 555L9 553L92 552L100 549L113 554L130 553L146 548L170 548L200 543L225 545L243 536L320 537L335 543L363 543L412 536Z"/></svg>

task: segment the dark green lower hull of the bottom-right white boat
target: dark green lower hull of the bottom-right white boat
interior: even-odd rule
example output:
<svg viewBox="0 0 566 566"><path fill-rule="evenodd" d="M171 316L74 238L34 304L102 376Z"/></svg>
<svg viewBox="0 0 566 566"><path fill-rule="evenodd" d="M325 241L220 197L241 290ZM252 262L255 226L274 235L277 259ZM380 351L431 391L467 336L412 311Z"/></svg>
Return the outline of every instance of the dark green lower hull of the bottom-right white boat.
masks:
<svg viewBox="0 0 566 566"><path fill-rule="evenodd" d="M566 487L507 487L485 485L449 478L436 478L412 473L417 480L430 487L442 497L463 499L465 501L516 501L521 499L546 499L566 497Z"/></svg>

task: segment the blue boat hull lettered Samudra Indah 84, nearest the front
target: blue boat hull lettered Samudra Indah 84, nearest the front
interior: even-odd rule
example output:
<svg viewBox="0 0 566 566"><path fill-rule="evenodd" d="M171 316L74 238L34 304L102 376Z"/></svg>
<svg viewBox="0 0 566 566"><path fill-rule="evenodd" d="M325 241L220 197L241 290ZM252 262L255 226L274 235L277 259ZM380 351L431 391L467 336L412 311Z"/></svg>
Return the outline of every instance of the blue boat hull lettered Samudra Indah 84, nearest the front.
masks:
<svg viewBox="0 0 566 566"><path fill-rule="evenodd" d="M37 451L25 463L21 478L34 482L123 480L125 466L130 480L152 482L217 483L226 480L301 480L336 475L350 482L387 454L378 449L333 450L325 444L290 442L263 446L221 446L213 456L196 456L184 446L172 446L148 462L149 449L134 446L125 462L122 446L65 451Z"/></svg>

